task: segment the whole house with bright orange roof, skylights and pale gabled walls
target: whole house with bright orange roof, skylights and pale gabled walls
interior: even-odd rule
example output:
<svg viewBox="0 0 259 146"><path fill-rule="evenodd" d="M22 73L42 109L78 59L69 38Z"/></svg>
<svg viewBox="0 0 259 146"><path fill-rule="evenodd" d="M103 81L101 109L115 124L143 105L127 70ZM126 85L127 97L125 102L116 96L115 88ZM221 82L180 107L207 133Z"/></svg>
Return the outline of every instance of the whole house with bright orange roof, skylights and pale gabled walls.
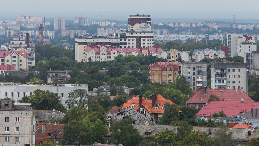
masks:
<svg viewBox="0 0 259 146"><path fill-rule="evenodd" d="M145 99L142 96L132 97L130 98L130 100L123 104L122 109L130 107L138 112L149 115L150 118L157 119L158 117L161 117L164 113L165 103L175 104L173 103L173 101L173 97L170 97L169 100L165 99L160 94L150 95L149 99ZM179 110L179 112L181 111Z"/></svg>

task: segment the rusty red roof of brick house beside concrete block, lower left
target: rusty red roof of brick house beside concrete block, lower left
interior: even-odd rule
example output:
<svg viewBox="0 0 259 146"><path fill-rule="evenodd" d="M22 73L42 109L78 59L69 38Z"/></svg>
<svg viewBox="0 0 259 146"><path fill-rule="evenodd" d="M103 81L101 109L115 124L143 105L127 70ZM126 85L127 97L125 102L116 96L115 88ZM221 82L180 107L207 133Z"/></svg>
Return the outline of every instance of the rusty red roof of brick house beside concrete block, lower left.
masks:
<svg viewBox="0 0 259 146"><path fill-rule="evenodd" d="M36 124L38 124L38 129L35 132L35 138L55 138L65 125L65 124L55 125L54 123L36 123ZM44 132L42 132L42 124L46 124L46 130ZM48 133L52 133L52 132L54 132L54 134L52 136L48 136ZM62 135L58 135L58 137L63 138L63 133Z"/></svg>

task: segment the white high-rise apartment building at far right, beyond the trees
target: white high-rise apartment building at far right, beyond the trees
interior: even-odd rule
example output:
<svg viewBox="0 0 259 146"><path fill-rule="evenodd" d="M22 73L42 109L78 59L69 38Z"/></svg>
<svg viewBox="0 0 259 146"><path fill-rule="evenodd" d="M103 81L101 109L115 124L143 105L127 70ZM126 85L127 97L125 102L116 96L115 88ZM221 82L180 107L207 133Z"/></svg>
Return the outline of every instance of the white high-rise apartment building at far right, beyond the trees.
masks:
<svg viewBox="0 0 259 146"><path fill-rule="evenodd" d="M254 37L246 34L228 34L227 45L229 57L244 57L244 53L251 53L257 50Z"/></svg>

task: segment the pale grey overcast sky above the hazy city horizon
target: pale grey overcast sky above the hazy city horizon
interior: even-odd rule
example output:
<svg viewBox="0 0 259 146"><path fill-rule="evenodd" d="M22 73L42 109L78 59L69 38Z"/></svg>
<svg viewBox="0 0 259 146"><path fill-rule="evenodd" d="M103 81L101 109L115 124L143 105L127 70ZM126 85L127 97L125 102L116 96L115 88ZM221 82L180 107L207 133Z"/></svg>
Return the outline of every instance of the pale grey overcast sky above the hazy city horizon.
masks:
<svg viewBox="0 0 259 146"><path fill-rule="evenodd" d="M6 2L6 5L3 2ZM73 17L71 14L80 15L82 12L86 13L84 15L94 13L99 15L104 12L107 14L114 14L109 12L127 12L127 14L151 12L154 15L157 12L158 15L154 15L153 18L179 18L179 15L181 18L208 18L211 15L211 18L232 18L233 13L245 12L245 15L236 17L257 19L258 15L251 12L259 11L258 0L250 0L248 3L245 0L1 0L1 3L0 17L35 13L46 14L48 17L51 15L57 17L61 14ZM188 14L188 12L191 13ZM222 12L229 12L229 14L225 15ZM119 14L124 13L117 15Z"/></svg>

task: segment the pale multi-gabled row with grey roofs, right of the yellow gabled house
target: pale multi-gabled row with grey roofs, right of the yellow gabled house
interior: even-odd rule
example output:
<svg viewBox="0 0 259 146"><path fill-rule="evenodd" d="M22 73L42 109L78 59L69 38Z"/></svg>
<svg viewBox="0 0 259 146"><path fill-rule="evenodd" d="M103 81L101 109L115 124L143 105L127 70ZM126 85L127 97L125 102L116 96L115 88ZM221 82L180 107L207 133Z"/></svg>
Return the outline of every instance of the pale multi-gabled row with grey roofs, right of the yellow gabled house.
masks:
<svg viewBox="0 0 259 146"><path fill-rule="evenodd" d="M195 59L196 61L201 61L204 58L224 58L225 52L221 50L214 50L211 48L206 48L204 50L193 50L192 59Z"/></svg>

